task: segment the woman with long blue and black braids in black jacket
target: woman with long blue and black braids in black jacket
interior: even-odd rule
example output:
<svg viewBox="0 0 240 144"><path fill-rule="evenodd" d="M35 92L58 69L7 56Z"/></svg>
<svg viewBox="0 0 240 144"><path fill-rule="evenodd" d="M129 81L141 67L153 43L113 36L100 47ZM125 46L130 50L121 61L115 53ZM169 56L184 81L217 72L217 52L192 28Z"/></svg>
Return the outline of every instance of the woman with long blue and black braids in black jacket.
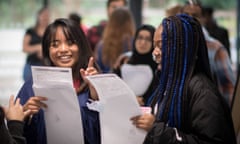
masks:
<svg viewBox="0 0 240 144"><path fill-rule="evenodd" d="M228 105L213 84L199 22L185 14L163 19L154 35L159 85L152 114L132 118L148 132L144 144L235 144Z"/></svg>

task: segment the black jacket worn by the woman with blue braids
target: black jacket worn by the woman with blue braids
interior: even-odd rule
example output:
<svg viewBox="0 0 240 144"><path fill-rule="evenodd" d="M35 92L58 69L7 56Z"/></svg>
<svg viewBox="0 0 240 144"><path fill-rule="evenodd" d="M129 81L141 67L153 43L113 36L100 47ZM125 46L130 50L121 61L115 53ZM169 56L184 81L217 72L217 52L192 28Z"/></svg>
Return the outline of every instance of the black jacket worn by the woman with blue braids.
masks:
<svg viewBox="0 0 240 144"><path fill-rule="evenodd" d="M206 76L193 76L186 98L186 122L182 129L155 121L144 144L236 143L230 109Z"/></svg>

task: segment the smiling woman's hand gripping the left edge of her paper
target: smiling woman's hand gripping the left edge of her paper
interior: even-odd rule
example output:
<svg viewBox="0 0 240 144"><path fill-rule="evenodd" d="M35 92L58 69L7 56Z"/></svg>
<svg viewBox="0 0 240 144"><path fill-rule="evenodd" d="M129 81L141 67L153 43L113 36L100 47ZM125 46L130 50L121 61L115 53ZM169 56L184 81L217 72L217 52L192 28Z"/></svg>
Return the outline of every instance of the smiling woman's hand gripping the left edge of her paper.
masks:
<svg viewBox="0 0 240 144"><path fill-rule="evenodd" d="M44 101L47 101L46 97L33 96L24 104L23 110L30 110L30 115L38 113L40 108L47 108L47 105L44 103Z"/></svg>

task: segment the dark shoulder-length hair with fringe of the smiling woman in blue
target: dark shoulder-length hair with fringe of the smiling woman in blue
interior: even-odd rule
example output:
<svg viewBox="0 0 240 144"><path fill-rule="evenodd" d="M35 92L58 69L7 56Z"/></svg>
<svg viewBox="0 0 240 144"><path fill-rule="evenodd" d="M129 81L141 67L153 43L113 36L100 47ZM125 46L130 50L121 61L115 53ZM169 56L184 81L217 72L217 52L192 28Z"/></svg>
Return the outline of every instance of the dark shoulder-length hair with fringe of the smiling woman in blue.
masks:
<svg viewBox="0 0 240 144"><path fill-rule="evenodd" d="M49 48L51 41L56 36L56 31L58 27L62 28L66 39L73 41L78 46L79 60L73 68L73 77L81 79L79 70L80 68L87 68L89 58L92 56L92 50L89 47L84 32L73 21L69 19L56 19L47 27L42 40L42 50L45 64L54 66L53 62L49 57Z"/></svg>

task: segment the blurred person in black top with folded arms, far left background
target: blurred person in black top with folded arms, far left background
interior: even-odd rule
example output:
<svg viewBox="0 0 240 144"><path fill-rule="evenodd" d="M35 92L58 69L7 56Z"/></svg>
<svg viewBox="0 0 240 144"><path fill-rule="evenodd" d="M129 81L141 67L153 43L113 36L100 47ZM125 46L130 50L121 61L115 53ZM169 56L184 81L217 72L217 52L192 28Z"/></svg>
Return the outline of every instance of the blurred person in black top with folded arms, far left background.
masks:
<svg viewBox="0 0 240 144"><path fill-rule="evenodd" d="M37 13L35 26L28 28L23 38L23 52L26 54L26 62L23 70L23 79L31 77L31 66L43 65L42 37L49 24L49 9L44 7Z"/></svg>

